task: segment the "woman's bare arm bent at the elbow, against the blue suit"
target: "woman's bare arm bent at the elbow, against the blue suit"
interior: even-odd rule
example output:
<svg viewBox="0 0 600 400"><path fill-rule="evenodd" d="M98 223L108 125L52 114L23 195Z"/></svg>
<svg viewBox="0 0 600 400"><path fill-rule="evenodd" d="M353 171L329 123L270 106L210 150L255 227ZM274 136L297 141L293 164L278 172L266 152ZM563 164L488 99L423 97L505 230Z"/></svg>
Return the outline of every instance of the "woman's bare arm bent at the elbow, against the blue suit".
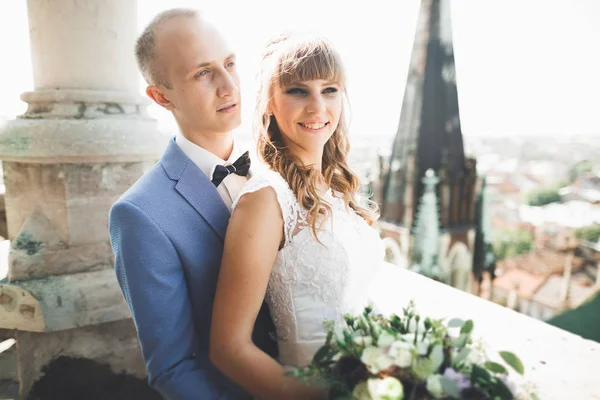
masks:
<svg viewBox="0 0 600 400"><path fill-rule="evenodd" d="M261 399L326 399L326 391L284 376L282 366L252 342L282 237L283 217L272 188L239 200L225 237L210 359L231 380Z"/></svg>

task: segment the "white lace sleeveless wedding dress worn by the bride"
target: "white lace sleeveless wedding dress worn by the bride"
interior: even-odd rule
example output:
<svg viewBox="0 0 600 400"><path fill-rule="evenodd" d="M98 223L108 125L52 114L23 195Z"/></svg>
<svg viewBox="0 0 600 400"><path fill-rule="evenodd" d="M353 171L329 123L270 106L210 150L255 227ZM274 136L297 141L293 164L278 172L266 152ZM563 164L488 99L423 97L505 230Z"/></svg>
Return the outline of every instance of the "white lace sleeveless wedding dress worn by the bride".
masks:
<svg viewBox="0 0 600 400"><path fill-rule="evenodd" d="M359 313L368 304L369 284L385 250L375 229L331 191L323 200L331 205L332 215L318 233L322 244L317 242L307 227L306 210L277 172L254 175L238 200L269 186L281 206L285 242L271 272L266 301L277 330L279 362L304 366L325 342L324 321L342 323L345 313Z"/></svg>

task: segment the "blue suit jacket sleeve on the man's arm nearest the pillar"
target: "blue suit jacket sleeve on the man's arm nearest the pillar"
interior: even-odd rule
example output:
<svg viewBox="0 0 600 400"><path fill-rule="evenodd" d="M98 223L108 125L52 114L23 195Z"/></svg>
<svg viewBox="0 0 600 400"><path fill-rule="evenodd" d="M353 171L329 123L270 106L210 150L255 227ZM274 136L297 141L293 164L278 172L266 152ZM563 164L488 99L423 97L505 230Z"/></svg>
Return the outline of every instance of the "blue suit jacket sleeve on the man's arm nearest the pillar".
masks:
<svg viewBox="0 0 600 400"><path fill-rule="evenodd" d="M117 279L137 328L150 385L169 400L223 396L211 372L198 362L191 302L169 238L126 201L112 207L109 230Z"/></svg>

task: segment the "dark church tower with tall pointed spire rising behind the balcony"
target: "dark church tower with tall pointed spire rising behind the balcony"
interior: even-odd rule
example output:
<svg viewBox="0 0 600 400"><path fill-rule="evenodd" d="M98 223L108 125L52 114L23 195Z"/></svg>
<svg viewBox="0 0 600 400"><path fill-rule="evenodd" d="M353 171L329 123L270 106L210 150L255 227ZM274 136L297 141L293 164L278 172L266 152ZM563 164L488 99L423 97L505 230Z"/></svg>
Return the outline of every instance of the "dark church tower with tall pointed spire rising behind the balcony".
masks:
<svg viewBox="0 0 600 400"><path fill-rule="evenodd" d="M476 161L465 157L458 109L454 48L448 0L421 3L400 123L380 195L382 236L398 242L413 264L417 204L423 178L439 178L440 237L436 249L446 283L471 291L475 244ZM467 282L454 279L468 271Z"/></svg>

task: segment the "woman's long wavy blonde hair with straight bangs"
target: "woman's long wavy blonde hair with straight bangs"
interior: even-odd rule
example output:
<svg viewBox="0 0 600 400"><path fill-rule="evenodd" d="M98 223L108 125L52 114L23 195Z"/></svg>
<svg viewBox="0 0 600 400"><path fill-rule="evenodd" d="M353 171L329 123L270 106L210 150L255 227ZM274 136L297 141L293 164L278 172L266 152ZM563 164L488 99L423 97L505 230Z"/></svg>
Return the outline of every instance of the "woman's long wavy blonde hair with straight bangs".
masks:
<svg viewBox="0 0 600 400"><path fill-rule="evenodd" d="M359 198L359 180L348 166L348 128L342 115L340 122L323 149L322 178L319 171L303 165L285 147L282 133L268 106L273 88L286 88L294 82L323 79L337 82L346 103L346 80L338 53L331 44L319 37L283 35L269 42L262 58L255 115L255 134L258 155L274 171L279 172L292 189L298 203L308 210L308 225L318 240L320 216L331 213L331 205L321 199L318 182L323 179L334 192L341 195L369 225L378 218L378 208L368 199ZM363 204L361 204L363 203Z"/></svg>

